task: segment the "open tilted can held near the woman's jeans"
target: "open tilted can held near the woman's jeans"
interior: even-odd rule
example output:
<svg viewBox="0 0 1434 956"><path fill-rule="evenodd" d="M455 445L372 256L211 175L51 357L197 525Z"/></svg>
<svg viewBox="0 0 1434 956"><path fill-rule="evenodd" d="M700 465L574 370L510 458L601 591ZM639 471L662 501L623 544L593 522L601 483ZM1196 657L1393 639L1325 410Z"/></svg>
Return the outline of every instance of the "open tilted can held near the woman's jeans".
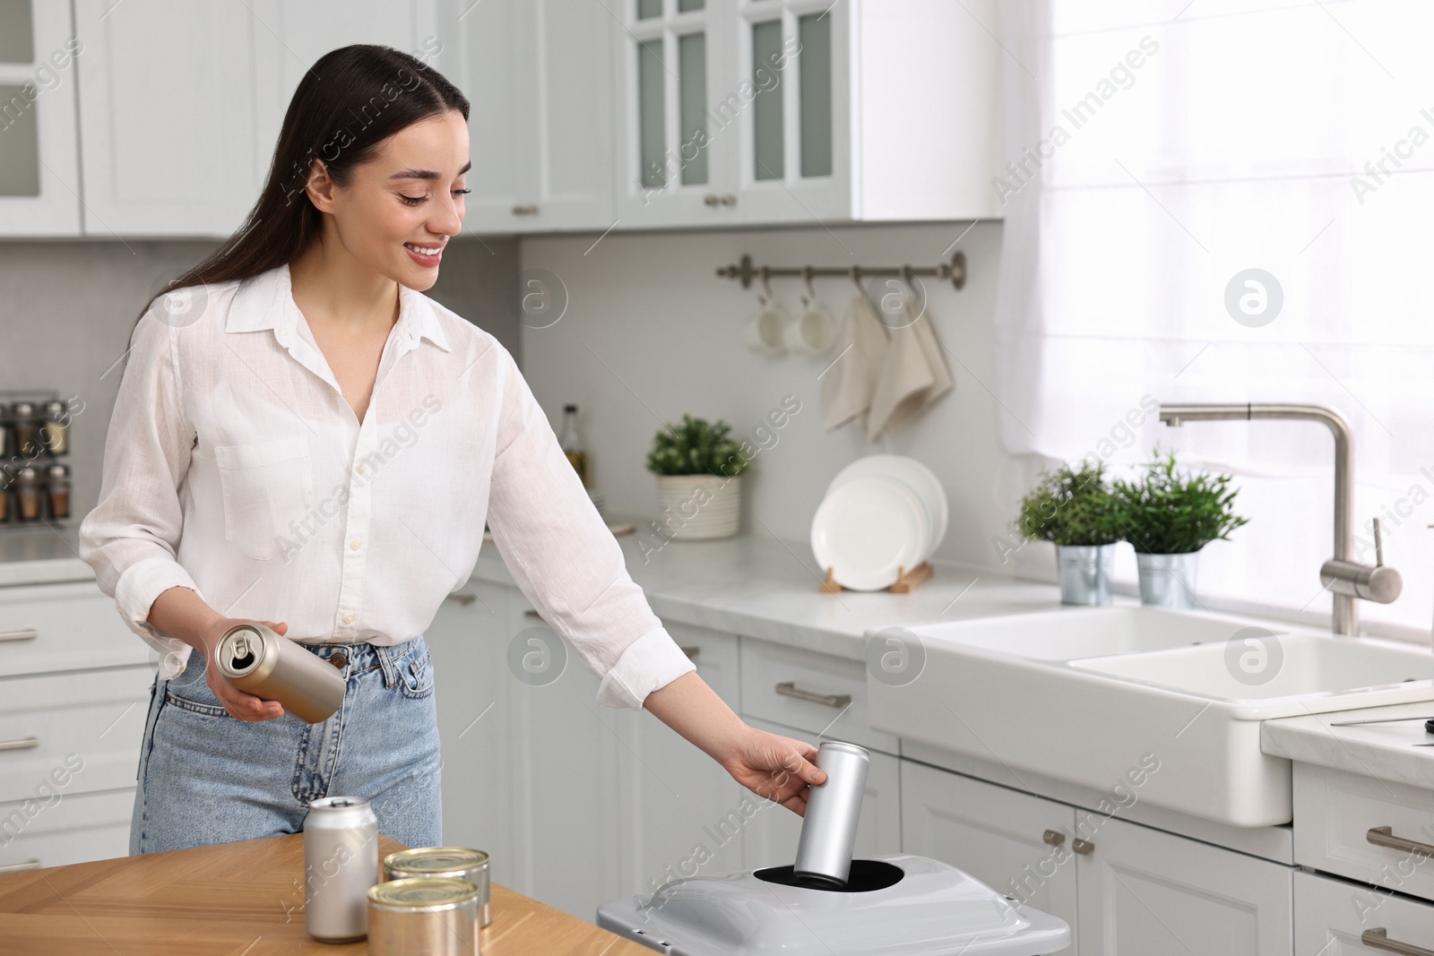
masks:
<svg viewBox="0 0 1434 956"><path fill-rule="evenodd" d="M225 631L214 656L232 687L278 701L310 724L324 722L344 702L344 678L337 668L261 623Z"/></svg>

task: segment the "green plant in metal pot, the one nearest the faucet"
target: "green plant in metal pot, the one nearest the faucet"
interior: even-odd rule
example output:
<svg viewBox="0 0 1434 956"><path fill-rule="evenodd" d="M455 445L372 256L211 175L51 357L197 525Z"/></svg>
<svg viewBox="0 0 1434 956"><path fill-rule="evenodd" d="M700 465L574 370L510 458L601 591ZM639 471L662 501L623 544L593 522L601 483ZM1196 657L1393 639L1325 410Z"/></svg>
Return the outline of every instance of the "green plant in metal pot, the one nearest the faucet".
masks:
<svg viewBox="0 0 1434 956"><path fill-rule="evenodd" d="M1140 603L1195 608L1200 549L1229 540L1249 519L1233 510L1232 476L1176 470L1174 451L1160 449L1139 477L1116 480L1116 517L1121 537L1136 549Z"/></svg>

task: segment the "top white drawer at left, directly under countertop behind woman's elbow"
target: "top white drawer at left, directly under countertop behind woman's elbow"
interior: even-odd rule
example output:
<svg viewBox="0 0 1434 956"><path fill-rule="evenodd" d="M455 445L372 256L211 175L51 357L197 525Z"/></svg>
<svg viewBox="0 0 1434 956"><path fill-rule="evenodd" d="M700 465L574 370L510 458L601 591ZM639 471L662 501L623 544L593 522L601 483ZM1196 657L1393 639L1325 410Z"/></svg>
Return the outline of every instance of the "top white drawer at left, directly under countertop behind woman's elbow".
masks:
<svg viewBox="0 0 1434 956"><path fill-rule="evenodd" d="M151 655L93 582L0 588L0 677L146 664Z"/></svg>

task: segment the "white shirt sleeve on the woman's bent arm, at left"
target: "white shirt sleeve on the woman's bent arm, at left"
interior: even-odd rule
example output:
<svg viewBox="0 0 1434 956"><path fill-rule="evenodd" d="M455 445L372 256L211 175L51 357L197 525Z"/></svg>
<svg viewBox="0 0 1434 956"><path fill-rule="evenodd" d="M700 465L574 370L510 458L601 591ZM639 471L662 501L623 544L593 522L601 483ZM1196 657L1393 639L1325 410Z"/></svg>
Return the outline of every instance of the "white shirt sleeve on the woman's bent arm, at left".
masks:
<svg viewBox="0 0 1434 956"><path fill-rule="evenodd" d="M178 363L182 330L146 312L130 338L105 439L99 505L80 522L80 558L120 616L161 655L159 677L184 669L189 645L149 623L155 598L194 579L175 559L184 530L179 484L195 431L184 413Z"/></svg>

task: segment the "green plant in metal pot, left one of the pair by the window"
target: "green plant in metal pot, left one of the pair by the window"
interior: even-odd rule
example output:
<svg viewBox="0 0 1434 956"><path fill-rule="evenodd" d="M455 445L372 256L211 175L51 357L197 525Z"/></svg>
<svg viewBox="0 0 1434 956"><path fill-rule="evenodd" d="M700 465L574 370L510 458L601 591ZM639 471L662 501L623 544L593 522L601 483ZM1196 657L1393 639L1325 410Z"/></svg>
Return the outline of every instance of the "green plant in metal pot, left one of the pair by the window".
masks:
<svg viewBox="0 0 1434 956"><path fill-rule="evenodd" d="M1021 499L1018 530L1027 540L1055 545L1061 603L1110 603L1110 563L1120 530L1104 462L1041 472Z"/></svg>

